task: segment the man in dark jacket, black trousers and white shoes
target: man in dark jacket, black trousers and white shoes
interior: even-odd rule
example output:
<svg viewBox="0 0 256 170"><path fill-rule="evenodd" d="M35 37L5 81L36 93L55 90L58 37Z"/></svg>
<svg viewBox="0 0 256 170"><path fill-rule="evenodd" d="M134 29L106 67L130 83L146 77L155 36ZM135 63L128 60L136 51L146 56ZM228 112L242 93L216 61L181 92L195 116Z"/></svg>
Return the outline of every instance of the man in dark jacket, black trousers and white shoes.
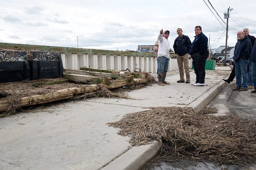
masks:
<svg viewBox="0 0 256 170"><path fill-rule="evenodd" d="M189 54L192 58L192 64L196 73L196 82L194 86L204 86L205 63L208 58L208 38L202 33L202 27L195 27L195 39L191 45Z"/></svg>

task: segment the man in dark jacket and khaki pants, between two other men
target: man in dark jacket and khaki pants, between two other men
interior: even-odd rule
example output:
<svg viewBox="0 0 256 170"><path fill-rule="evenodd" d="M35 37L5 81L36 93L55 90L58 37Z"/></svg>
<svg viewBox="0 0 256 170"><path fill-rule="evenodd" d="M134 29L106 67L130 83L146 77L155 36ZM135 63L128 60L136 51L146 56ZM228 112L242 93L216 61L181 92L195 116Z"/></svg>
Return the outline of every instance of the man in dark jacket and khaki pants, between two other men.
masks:
<svg viewBox="0 0 256 170"><path fill-rule="evenodd" d="M184 68L186 72L186 83L190 83L190 73L189 73L189 66L188 66L188 52L191 47L191 41L188 36L182 34L182 29L177 29L177 34L179 35L174 40L174 53L177 55L177 63L180 71L180 80L178 83L184 83ZM184 64L184 68L183 68Z"/></svg>

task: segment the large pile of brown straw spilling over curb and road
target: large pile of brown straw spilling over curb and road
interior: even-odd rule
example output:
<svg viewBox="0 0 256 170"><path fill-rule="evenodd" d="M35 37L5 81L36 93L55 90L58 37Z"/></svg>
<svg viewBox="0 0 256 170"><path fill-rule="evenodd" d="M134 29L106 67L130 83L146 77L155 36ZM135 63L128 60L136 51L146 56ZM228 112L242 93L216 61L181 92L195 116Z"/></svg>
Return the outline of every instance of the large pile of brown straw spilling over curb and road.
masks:
<svg viewBox="0 0 256 170"><path fill-rule="evenodd" d="M214 116L216 109L154 107L130 113L108 125L120 128L133 145L162 141L160 156L195 158L231 164L256 158L256 121L235 115Z"/></svg>

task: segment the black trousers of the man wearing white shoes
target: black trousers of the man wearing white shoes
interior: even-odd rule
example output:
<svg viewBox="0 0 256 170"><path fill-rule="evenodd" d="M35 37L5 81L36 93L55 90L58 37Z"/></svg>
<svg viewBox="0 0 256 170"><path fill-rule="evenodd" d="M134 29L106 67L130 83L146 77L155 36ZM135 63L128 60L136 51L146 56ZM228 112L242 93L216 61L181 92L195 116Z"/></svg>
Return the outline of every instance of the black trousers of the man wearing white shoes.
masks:
<svg viewBox="0 0 256 170"><path fill-rule="evenodd" d="M196 83L204 84L205 78L205 63L208 56L199 55L198 53L191 55L192 64L196 73Z"/></svg>

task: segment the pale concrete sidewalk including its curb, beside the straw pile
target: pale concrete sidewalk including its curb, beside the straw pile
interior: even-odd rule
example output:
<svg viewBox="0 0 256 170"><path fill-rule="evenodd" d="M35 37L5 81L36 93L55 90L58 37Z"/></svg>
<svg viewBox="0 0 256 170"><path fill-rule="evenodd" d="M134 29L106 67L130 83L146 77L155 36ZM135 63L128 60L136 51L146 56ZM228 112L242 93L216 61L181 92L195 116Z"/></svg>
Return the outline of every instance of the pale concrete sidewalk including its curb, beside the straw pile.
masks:
<svg viewBox="0 0 256 170"><path fill-rule="evenodd" d="M216 69L218 69L217 67ZM127 99L98 98L55 104L0 119L0 169L139 169L160 149L159 142L132 147L128 137L106 123L145 107L202 109L226 85L224 70L207 70L206 86L177 83L153 84L126 92ZM229 70L229 71L226 71ZM194 72L190 72L195 82Z"/></svg>

